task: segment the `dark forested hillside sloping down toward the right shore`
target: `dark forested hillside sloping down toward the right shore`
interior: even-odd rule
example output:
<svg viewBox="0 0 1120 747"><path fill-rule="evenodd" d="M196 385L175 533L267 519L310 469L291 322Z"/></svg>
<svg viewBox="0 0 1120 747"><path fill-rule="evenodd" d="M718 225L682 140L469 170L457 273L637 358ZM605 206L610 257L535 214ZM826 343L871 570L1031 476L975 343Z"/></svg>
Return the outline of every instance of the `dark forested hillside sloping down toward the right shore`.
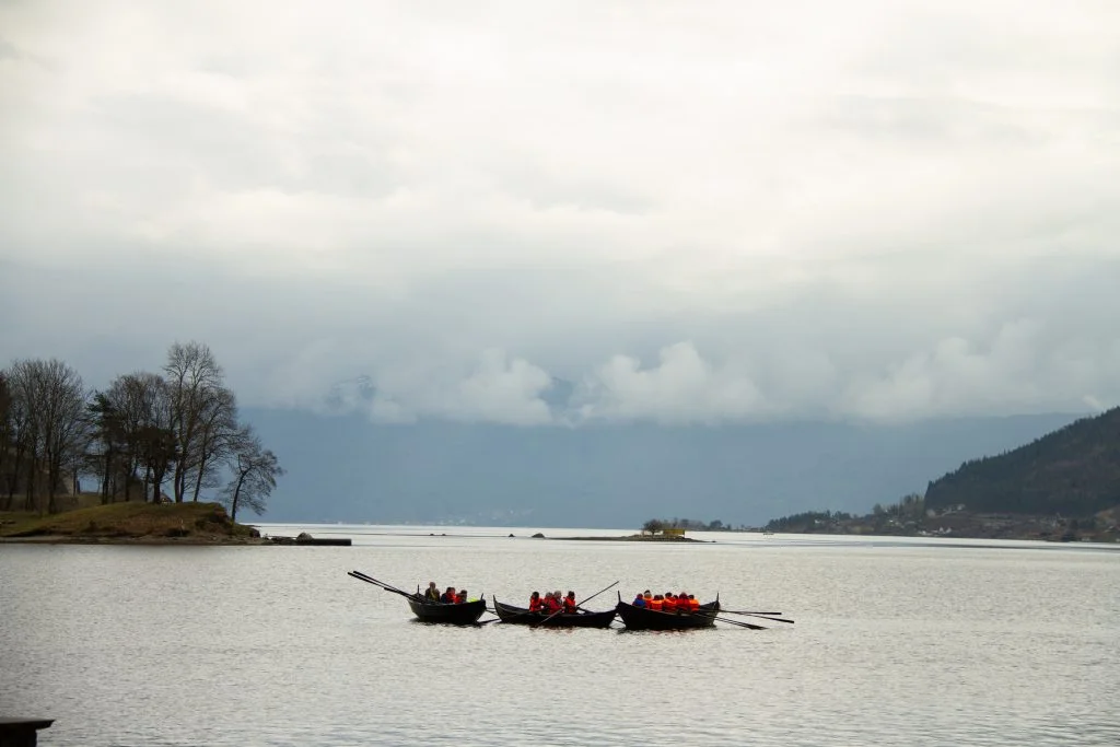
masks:
<svg viewBox="0 0 1120 747"><path fill-rule="evenodd" d="M1120 505L1120 408L930 483L927 508L1088 516Z"/></svg>

